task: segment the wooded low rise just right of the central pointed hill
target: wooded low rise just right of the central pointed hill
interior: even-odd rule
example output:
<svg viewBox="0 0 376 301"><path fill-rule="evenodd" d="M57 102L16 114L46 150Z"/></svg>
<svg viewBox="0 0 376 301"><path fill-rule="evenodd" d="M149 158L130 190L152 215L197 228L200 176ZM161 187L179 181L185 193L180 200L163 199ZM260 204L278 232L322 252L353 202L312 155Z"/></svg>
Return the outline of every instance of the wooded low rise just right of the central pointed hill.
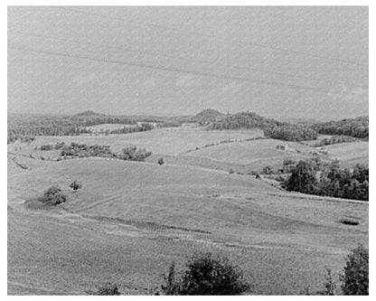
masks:
<svg viewBox="0 0 376 301"><path fill-rule="evenodd" d="M285 123L275 119L263 118L253 112L240 112L225 115L223 118L211 122L209 129L238 129L238 128L268 128L282 126Z"/></svg>

